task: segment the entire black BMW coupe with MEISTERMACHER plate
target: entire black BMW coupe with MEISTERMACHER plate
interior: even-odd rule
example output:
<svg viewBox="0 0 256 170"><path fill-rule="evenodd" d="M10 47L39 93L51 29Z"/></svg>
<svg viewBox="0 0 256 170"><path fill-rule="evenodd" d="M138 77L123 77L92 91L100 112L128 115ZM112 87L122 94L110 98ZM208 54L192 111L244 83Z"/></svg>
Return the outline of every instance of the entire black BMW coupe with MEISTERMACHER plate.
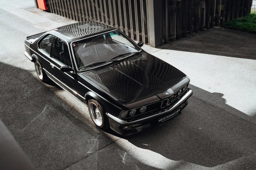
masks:
<svg viewBox="0 0 256 170"><path fill-rule="evenodd" d="M130 135L181 114L192 90L177 68L109 25L86 21L25 40L38 78L88 106L94 124Z"/></svg>

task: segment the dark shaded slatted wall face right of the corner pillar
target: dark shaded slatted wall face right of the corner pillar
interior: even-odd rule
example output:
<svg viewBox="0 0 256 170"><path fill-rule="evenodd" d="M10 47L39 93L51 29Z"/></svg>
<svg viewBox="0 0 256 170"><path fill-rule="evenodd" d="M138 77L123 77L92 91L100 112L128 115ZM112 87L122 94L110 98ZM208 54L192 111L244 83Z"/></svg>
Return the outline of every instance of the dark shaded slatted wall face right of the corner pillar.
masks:
<svg viewBox="0 0 256 170"><path fill-rule="evenodd" d="M241 18L251 0L162 0L163 42L168 43L199 31Z"/></svg>

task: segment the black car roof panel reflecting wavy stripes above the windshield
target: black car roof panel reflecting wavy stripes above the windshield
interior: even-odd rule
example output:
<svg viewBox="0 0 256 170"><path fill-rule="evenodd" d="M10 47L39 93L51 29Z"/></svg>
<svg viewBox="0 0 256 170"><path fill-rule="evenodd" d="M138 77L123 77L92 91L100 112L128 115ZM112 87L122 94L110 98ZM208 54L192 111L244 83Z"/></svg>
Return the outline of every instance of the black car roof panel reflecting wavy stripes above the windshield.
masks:
<svg viewBox="0 0 256 170"><path fill-rule="evenodd" d="M93 35L98 35L116 28L97 21L77 22L53 29L70 43Z"/></svg>

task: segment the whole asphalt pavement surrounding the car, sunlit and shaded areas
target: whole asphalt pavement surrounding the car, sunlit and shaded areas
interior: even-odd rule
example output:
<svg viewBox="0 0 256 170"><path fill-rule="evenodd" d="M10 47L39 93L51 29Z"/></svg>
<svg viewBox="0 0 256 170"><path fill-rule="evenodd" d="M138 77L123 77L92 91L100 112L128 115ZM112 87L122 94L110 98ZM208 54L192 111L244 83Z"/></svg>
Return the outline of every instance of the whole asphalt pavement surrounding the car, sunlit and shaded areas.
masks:
<svg viewBox="0 0 256 170"><path fill-rule="evenodd" d="M230 57L218 53L225 47L210 54L200 46L180 51L145 45L187 74L194 94L164 126L121 136L97 129L88 109L53 82L41 82L24 56L26 36L75 21L36 9L33 0L0 4L0 119L36 169L256 169L256 60L247 56L255 51L231 49L240 57ZM43 22L51 25L34 27ZM203 34L218 34L212 30ZM254 44L255 37L246 34Z"/></svg>

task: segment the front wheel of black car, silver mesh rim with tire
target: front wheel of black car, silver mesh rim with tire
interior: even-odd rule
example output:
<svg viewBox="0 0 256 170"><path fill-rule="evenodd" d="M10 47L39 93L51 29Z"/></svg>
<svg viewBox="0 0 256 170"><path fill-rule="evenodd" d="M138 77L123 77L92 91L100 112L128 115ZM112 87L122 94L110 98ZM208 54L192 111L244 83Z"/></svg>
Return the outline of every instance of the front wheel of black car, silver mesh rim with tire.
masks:
<svg viewBox="0 0 256 170"><path fill-rule="evenodd" d="M104 109L100 106L100 104L96 100L90 99L88 101L88 110L94 124L98 128L100 128L101 130L105 130L109 128L109 118L107 117ZM99 117L99 114L101 117ZM102 121L100 121L100 118Z"/></svg>

